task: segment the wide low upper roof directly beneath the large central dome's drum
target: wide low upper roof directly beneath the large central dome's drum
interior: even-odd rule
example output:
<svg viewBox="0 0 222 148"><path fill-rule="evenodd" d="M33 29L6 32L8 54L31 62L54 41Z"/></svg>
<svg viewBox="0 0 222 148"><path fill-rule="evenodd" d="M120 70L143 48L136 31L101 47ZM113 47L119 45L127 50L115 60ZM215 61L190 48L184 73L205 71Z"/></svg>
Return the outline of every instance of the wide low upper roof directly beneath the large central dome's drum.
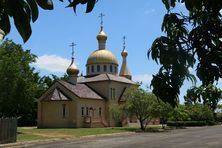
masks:
<svg viewBox="0 0 222 148"><path fill-rule="evenodd" d="M78 83L89 83L89 82L98 82L98 81L116 81L121 83L128 83L128 84L136 84L132 80L129 80L125 77L120 77L112 74L100 74L94 77L79 77Z"/></svg>

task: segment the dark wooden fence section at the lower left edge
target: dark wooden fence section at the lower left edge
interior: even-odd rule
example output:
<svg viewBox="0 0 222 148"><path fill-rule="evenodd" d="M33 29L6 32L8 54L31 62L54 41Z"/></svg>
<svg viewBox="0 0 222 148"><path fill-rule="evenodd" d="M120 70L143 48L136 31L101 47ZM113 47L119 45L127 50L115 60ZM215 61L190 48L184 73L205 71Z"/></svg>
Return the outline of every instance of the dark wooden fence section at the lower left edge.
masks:
<svg viewBox="0 0 222 148"><path fill-rule="evenodd" d="M1 118L0 119L0 144L16 142L17 119Z"/></svg>

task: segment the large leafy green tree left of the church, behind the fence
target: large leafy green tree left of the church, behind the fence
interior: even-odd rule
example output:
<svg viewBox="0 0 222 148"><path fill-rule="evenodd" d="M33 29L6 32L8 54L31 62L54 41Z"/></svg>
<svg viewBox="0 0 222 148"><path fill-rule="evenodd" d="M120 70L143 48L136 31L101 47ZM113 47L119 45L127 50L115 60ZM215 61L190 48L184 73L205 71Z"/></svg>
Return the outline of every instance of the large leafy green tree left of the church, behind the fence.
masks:
<svg viewBox="0 0 222 148"><path fill-rule="evenodd" d="M0 45L0 57L0 117L35 119L39 75L30 64L36 56L6 40Z"/></svg>

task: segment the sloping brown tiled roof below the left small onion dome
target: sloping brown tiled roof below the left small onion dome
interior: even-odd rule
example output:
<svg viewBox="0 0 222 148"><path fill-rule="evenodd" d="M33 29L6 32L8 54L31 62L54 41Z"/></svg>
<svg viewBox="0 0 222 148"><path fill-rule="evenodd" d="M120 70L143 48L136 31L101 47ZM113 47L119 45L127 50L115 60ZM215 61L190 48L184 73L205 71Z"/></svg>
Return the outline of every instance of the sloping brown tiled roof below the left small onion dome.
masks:
<svg viewBox="0 0 222 148"><path fill-rule="evenodd" d="M66 89L68 89L69 91L74 93L76 96L78 96L79 98L103 99L101 96L99 96L96 92L94 92L85 84L73 85L65 81L58 81L58 82L62 84Z"/></svg>

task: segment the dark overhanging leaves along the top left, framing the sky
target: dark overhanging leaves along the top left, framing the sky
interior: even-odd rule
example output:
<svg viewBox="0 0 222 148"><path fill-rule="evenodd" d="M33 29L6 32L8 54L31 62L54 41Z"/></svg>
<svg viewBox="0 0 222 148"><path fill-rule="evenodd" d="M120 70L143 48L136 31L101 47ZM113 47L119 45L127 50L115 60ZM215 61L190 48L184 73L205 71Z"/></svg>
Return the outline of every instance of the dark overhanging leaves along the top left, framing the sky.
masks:
<svg viewBox="0 0 222 148"><path fill-rule="evenodd" d="M63 2L64 0L60 0ZM91 12L97 0L68 0L67 7L73 8L76 12L76 6L87 4L86 13ZM32 34L31 21L34 23L38 19L38 6L45 10L53 9L52 0L1 0L0 1L0 41L10 32L10 17L26 42Z"/></svg>

